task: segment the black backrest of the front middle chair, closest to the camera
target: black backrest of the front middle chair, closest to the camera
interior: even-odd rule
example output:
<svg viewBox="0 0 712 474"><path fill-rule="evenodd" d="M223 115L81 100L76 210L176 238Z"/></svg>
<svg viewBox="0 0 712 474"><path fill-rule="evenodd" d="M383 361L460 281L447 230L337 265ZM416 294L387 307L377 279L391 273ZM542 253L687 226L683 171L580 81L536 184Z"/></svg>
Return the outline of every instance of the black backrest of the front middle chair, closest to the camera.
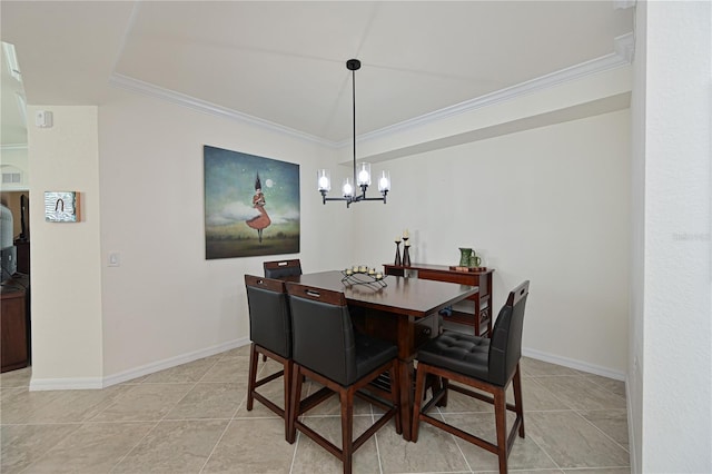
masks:
<svg viewBox="0 0 712 474"><path fill-rule="evenodd" d="M287 283L293 359L344 386L356 379L356 340L340 292Z"/></svg>

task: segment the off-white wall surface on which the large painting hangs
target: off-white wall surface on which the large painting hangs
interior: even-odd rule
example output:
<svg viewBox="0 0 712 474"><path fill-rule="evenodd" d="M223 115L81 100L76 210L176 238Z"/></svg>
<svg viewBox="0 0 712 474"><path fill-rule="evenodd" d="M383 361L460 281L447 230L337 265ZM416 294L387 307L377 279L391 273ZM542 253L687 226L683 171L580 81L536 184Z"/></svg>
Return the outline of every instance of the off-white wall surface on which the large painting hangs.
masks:
<svg viewBox="0 0 712 474"><path fill-rule="evenodd" d="M315 190L330 161L320 146L120 90L100 109L99 136L109 382L246 343L243 275L260 275L263 260L299 257L305 271L350 261L348 215ZM298 255L205 259L204 145L300 165Z"/></svg>

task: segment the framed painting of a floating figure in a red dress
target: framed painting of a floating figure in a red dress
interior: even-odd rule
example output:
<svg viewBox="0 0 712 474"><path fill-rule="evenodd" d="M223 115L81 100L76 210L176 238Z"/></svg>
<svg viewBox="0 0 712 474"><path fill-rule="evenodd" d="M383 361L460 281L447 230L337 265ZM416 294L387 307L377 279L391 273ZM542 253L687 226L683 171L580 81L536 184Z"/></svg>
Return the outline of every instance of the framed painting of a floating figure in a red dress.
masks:
<svg viewBox="0 0 712 474"><path fill-rule="evenodd" d="M299 251L299 165L204 146L206 259Z"/></svg>

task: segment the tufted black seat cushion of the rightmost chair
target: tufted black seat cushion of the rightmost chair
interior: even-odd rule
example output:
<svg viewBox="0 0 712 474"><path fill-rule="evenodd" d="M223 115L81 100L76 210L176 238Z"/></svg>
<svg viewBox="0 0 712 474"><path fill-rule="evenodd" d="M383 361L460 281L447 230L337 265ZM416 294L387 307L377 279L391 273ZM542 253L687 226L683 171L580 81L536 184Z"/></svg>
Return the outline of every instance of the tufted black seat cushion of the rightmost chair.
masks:
<svg viewBox="0 0 712 474"><path fill-rule="evenodd" d="M421 363L487 381L490 339L445 330L428 340L417 354Z"/></svg>

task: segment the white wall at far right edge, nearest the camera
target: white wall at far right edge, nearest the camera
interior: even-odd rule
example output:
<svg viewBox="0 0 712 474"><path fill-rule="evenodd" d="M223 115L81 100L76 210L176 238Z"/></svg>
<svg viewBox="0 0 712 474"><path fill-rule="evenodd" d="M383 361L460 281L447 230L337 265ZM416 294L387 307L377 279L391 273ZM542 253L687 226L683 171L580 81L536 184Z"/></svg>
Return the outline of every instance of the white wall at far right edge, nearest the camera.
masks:
<svg viewBox="0 0 712 474"><path fill-rule="evenodd" d="M629 384L636 472L712 472L712 3L639 4L636 254ZM640 130L640 131L639 131ZM640 169L642 164L643 169ZM641 293L642 288L642 293ZM637 365L637 367L636 367Z"/></svg>

